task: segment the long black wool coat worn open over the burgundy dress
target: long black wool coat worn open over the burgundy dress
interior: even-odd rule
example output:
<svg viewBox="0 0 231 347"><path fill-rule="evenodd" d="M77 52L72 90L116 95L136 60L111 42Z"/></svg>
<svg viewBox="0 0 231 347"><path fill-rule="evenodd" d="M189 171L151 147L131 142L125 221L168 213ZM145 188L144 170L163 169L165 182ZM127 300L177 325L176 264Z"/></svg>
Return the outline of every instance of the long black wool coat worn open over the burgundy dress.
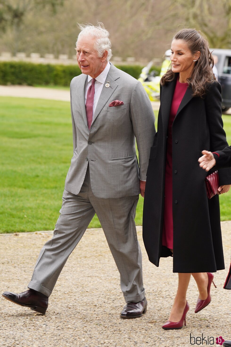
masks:
<svg viewBox="0 0 231 347"><path fill-rule="evenodd" d="M158 129L150 150L144 209L143 241L149 260L171 255L162 246L165 161L169 113L176 79L161 87ZM224 269L219 196L208 200L201 151L227 146L221 111L221 85L214 81L205 98L187 88L172 124L173 272L215 272ZM219 170L220 185L231 184L231 169Z"/></svg>

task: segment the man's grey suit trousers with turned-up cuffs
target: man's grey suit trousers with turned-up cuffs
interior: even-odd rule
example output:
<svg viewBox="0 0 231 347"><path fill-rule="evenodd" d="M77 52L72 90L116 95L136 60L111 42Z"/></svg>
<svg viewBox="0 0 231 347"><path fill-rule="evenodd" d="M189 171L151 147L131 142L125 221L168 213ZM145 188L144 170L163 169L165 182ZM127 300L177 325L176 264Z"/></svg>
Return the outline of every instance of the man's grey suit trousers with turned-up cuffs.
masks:
<svg viewBox="0 0 231 347"><path fill-rule="evenodd" d="M137 241L135 210L139 195L97 198L91 191L89 166L78 195L66 190L51 240L43 246L28 288L50 296L69 255L97 214L120 273L126 303L144 296L142 254Z"/></svg>

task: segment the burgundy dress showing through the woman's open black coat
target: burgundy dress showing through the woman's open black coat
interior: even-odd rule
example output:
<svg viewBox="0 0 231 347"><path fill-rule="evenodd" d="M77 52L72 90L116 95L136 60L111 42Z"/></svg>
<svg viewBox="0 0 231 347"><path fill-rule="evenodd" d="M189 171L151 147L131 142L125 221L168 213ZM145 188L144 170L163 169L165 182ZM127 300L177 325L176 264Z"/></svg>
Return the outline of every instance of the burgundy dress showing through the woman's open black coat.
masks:
<svg viewBox="0 0 231 347"><path fill-rule="evenodd" d="M172 123L177 110L185 95L188 83L180 83L177 80L172 98L171 110L168 121L168 139L166 149L165 168L165 210L163 218L162 245L173 249L173 219L172 219Z"/></svg>

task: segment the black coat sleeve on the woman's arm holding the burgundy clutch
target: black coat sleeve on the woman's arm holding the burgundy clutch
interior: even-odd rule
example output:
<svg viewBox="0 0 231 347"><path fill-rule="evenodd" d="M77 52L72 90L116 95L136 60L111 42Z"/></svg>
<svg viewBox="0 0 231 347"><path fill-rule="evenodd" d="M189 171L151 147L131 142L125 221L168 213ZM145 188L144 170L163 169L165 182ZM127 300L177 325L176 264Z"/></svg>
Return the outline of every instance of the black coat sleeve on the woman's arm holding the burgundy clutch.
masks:
<svg viewBox="0 0 231 347"><path fill-rule="evenodd" d="M205 96L205 108L208 127L210 129L210 151L217 152L228 146L223 121L221 118L221 85L219 82L212 83ZM231 184L231 168L219 170L220 185Z"/></svg>

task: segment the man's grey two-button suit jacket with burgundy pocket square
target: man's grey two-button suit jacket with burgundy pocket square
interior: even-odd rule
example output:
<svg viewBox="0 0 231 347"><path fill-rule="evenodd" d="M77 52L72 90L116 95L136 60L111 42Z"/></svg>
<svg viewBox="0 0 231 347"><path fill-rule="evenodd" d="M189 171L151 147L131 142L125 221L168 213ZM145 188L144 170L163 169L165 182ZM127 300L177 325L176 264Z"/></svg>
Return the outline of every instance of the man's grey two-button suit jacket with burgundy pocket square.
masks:
<svg viewBox="0 0 231 347"><path fill-rule="evenodd" d="M90 131L85 109L87 75L70 85L73 157L65 189L80 192L89 164L91 189L99 198L140 193L139 179L146 180L150 147L156 133L151 102L143 86L111 64L94 113ZM114 100L124 105L109 107ZM136 158L135 139L139 151Z"/></svg>

